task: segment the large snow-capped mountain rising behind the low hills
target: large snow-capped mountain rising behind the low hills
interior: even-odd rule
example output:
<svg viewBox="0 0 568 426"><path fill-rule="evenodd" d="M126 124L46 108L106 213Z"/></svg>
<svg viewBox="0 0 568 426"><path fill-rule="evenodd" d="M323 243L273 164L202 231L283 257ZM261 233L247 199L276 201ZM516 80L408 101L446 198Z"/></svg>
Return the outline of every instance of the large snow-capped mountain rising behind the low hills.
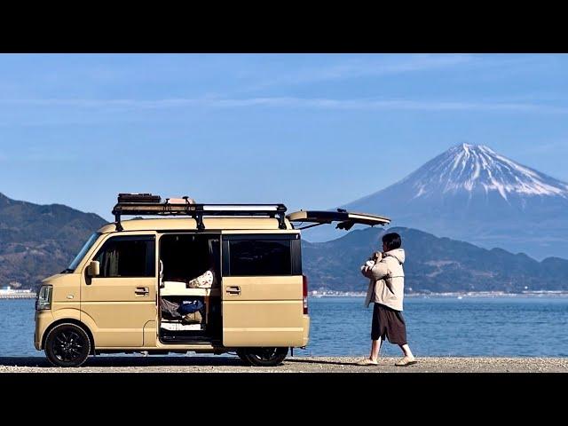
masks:
<svg viewBox="0 0 568 426"><path fill-rule="evenodd" d="M453 146L398 183L342 208L486 248L568 257L568 184L488 146Z"/></svg>

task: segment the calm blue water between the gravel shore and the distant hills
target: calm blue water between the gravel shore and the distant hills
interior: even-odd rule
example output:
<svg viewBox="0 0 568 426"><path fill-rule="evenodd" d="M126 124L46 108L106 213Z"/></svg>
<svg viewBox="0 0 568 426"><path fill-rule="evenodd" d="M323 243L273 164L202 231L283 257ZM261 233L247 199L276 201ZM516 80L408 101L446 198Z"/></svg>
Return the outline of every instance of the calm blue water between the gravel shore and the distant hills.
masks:
<svg viewBox="0 0 568 426"><path fill-rule="evenodd" d="M366 355L371 313L363 298L311 298L310 343L295 355ZM408 297L404 315L416 356L568 356L566 297ZM33 337L34 300L0 300L0 357L43 356Z"/></svg>

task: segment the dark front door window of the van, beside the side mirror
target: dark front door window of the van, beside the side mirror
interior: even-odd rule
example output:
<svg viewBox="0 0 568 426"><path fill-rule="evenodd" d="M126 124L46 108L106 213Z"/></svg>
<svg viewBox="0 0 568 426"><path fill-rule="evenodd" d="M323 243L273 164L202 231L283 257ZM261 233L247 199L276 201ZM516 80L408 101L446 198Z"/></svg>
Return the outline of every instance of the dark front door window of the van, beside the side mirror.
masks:
<svg viewBox="0 0 568 426"><path fill-rule="evenodd" d="M93 260L99 261L100 278L154 277L154 236L111 238L100 248Z"/></svg>

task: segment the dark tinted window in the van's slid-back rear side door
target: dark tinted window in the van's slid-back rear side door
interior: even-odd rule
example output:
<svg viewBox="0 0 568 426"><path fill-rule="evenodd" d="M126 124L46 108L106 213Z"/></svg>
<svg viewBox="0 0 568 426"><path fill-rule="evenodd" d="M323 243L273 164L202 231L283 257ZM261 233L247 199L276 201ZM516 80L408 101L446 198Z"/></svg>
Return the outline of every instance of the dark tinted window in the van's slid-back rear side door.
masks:
<svg viewBox="0 0 568 426"><path fill-rule="evenodd" d="M287 238L238 236L224 241L225 276L301 274L300 241ZM228 256L227 256L228 255ZM228 262L226 258L228 257Z"/></svg>

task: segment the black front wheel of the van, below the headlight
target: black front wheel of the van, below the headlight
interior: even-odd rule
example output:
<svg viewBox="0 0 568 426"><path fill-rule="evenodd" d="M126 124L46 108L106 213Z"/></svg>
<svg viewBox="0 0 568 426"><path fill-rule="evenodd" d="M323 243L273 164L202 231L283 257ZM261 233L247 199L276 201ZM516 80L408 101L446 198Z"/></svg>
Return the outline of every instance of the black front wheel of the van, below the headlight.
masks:
<svg viewBox="0 0 568 426"><path fill-rule="evenodd" d="M90 353L89 335L75 324L59 324L45 338L45 356L55 367L79 367Z"/></svg>

